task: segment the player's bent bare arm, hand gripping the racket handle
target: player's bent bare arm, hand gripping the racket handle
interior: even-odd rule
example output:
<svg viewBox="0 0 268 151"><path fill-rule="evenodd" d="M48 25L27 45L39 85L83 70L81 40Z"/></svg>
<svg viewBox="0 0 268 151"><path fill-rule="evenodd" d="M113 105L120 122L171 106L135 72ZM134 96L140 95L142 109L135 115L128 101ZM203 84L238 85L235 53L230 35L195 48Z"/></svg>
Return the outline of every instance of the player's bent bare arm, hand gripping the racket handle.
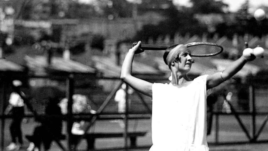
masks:
<svg viewBox="0 0 268 151"><path fill-rule="evenodd" d="M132 49L129 49L122 65L120 78L126 84L130 85L134 90L137 90L142 94L152 97L153 84L132 76L132 62L134 59L134 55L143 52L143 50L139 48L140 43L141 42L139 41L137 45L135 45Z"/></svg>

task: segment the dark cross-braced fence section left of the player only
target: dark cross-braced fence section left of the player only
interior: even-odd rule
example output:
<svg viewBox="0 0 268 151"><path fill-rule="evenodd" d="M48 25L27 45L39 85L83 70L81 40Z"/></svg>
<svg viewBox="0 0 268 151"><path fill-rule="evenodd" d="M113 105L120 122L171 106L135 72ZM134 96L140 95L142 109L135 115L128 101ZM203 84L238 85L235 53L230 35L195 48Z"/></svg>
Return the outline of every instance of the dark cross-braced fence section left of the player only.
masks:
<svg viewBox="0 0 268 151"><path fill-rule="evenodd" d="M116 116L116 115L122 115L124 114L124 124L125 124L125 128L124 128L124 148L117 148L119 150L128 150L128 149L133 149L133 147L130 147L128 146L128 120L129 119L140 119L140 118L143 118L143 119L150 119L150 116L148 116L148 114L151 114L151 110L150 110L150 107L146 104L146 102L144 101L143 97L138 94L140 100L142 101L142 104L144 104L146 106L146 109L147 111L146 112L143 112L143 113L132 113L132 112L129 112L128 111L128 103L126 103L126 111L124 113L103 113L103 110L104 108L107 106L108 102L110 100L113 99L116 91L121 87L122 85L122 81L120 80L120 78L117 78L117 77L100 77L98 79L102 79L102 80L120 80L120 82L114 87L114 89L110 92L110 94L107 96L107 98L104 100L104 102L101 104L101 106L98 108L97 110L97 113L96 114L73 114L72 113L72 103L73 103L73 100L72 100L72 95L74 94L74 76L73 74L70 74L68 76L29 76L27 78L52 78L52 79L66 79L66 84L67 84L67 98L68 98L68 107L67 107L67 114L66 115L60 115L60 116L53 116L53 117L56 117L56 118L59 118L59 119L62 119L62 120L66 120L67 121L67 148L65 148L62 144L62 142L60 142L59 140L55 139L54 141L57 142L58 146L64 150L64 151L71 151L71 150L76 150L76 145L72 143L72 133L71 133L71 129L72 129L72 123L74 121L74 119L84 119L86 120L86 124L85 124L85 129L84 131L88 131L89 128L92 126L92 124L94 124L94 122L96 120L107 120L107 119L120 119L120 117ZM4 80L4 78L2 78L1 80ZM9 81L9 84L12 83L10 80L7 80ZM7 84L7 83L6 83ZM24 117L35 117L35 118L38 118L38 117L50 117L49 115L45 115L45 114L38 114L36 110L33 109L32 105L30 104L30 101L29 99L23 94L23 92L15 87L13 84L12 84L12 88L15 92L17 92L21 98L23 98L25 104L27 105L27 107L29 108L29 110L33 113L32 115L25 115ZM3 88L4 89L4 88ZM128 93L127 93L127 90L128 90L128 86L126 88L126 100L128 100ZM3 96L5 96L5 92L3 92ZM6 106L5 104L5 101L2 101L2 104L1 106ZM4 111L4 108L2 109ZM105 115L115 115L115 117L108 117L108 116L105 116ZM138 115L139 114L139 115ZM141 115L141 114L147 114L147 115ZM78 117L77 117L78 116ZM1 120L2 120L2 128L1 128L1 150L4 150L4 126L5 126L5 119L6 118L12 118L13 116L10 116L10 115L4 115L4 113L2 113L0 115L1 117ZM85 137L86 134L80 136L78 138L78 143L80 142L80 140L82 138ZM77 144L78 144L77 143ZM150 146L137 146L137 148L149 148Z"/></svg>

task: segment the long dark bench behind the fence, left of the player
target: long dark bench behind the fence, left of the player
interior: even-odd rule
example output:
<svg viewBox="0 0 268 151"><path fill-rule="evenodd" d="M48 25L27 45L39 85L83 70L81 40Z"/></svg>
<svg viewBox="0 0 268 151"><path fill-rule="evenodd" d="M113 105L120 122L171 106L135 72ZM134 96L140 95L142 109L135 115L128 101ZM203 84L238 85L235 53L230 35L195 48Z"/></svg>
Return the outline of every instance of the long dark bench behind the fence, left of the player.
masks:
<svg viewBox="0 0 268 151"><path fill-rule="evenodd" d="M145 136L146 132L128 132L128 138L130 138L130 147L134 148L137 146L136 140L138 136ZM32 140L32 135L26 135L25 136L28 140ZM77 140L81 137L81 135L72 135L73 142L77 143ZM123 132L98 132L98 133L88 133L85 135L84 138L87 140L87 148L94 149L94 143L96 138L113 138L113 137L124 137ZM65 140L66 136L61 135L58 137L58 140Z"/></svg>

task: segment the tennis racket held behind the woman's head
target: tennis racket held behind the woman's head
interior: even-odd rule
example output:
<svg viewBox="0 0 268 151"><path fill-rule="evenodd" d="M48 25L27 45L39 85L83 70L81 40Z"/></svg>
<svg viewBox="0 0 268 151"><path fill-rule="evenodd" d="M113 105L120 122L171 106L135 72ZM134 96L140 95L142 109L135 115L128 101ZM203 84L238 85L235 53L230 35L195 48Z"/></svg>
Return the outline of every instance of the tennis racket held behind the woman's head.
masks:
<svg viewBox="0 0 268 151"><path fill-rule="evenodd" d="M194 42L188 43L185 46L191 51L193 57L215 56L223 51L223 47L216 43ZM140 45L140 48L143 50L166 50L168 47L162 45Z"/></svg>

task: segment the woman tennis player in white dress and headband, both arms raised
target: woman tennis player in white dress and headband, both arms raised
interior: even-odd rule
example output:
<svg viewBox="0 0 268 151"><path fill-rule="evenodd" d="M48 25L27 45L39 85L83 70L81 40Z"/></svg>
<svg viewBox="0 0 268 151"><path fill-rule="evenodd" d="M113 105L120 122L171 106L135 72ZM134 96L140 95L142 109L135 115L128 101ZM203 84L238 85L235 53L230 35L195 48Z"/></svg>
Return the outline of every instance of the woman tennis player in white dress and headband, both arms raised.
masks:
<svg viewBox="0 0 268 151"><path fill-rule="evenodd" d="M152 97L152 147L150 151L208 151L206 97L211 88L237 73L256 57L241 56L225 71L188 78L194 59L184 45L166 49L164 61L172 73L169 84L150 83L131 75L134 54L143 52L139 41L129 49L122 65L121 79L132 88ZM164 110L164 111L163 111Z"/></svg>

